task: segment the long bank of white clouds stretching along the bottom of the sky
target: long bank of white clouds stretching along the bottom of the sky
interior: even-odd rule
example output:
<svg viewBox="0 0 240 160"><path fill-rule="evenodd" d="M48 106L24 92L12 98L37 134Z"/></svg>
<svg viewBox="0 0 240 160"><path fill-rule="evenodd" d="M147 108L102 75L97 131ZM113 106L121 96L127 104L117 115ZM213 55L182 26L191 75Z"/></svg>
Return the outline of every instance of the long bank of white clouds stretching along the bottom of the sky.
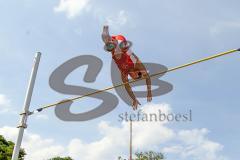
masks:
<svg viewBox="0 0 240 160"><path fill-rule="evenodd" d="M159 109L162 113L172 113L167 104L148 104L142 111L158 113ZM28 153L27 160L42 160L55 155L68 155L76 160L113 160L118 155L128 154L129 123L122 122L120 126L114 126L102 121L98 124L98 130L102 135L99 140L86 143L74 138L66 147L56 144L53 139L26 132L23 147ZM16 137L16 133L16 129L11 127L0 128L0 134L11 140ZM221 154L223 146L209 140L208 134L205 128L175 131L167 127L166 121L133 122L133 148L134 151L162 151L175 155L179 160L226 160Z"/></svg>

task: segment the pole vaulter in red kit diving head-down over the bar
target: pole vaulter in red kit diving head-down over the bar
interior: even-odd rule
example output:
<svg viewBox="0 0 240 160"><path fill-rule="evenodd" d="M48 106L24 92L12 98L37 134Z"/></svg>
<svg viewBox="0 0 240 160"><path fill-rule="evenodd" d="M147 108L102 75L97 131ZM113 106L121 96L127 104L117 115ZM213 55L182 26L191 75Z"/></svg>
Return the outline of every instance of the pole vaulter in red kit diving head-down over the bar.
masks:
<svg viewBox="0 0 240 160"><path fill-rule="evenodd" d="M152 100L151 92L151 78L139 58L131 51L131 42L127 41L122 35L110 36L108 26L103 27L102 40L105 43L104 49L112 54L112 58L117 64L123 83L128 82L128 75L132 79L145 78L147 84L147 101ZM129 96L133 100L133 109L137 109L140 105L139 101L133 94L132 88L129 83L125 84Z"/></svg>

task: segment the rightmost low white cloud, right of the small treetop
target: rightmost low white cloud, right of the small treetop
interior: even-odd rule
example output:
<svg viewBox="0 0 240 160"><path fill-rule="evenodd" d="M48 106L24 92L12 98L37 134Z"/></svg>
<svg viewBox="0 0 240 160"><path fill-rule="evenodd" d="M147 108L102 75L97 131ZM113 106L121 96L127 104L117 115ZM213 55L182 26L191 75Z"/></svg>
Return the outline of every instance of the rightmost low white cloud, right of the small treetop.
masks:
<svg viewBox="0 0 240 160"><path fill-rule="evenodd" d="M206 128L181 130L175 137L178 144L165 147L163 152L177 154L182 159L226 160L227 158L220 154L223 146L209 140L208 132Z"/></svg>

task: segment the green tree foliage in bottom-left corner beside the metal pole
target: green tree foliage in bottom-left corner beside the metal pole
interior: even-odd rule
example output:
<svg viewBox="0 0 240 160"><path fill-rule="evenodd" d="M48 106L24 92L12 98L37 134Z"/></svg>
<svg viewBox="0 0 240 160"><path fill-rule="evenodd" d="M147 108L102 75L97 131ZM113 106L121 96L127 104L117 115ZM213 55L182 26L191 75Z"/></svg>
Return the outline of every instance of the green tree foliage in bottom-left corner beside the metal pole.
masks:
<svg viewBox="0 0 240 160"><path fill-rule="evenodd" d="M7 141L2 135L0 135L0 160L11 160L14 143ZM24 160L26 155L23 149L20 149L19 160Z"/></svg>

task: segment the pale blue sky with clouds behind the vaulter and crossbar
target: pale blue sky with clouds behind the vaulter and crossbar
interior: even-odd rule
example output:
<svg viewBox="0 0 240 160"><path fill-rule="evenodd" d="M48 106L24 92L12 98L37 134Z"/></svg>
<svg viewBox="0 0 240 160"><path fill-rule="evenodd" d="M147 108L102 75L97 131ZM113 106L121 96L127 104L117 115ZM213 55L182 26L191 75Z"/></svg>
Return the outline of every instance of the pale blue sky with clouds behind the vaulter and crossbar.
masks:
<svg viewBox="0 0 240 160"><path fill-rule="evenodd" d="M240 47L240 2L237 0L0 2L0 133L5 133L6 137L13 140L16 137L16 130L13 128L19 119L17 113L22 109L32 61L37 51L42 52L42 58L31 109L69 97L52 90L48 79L54 69L75 56L91 54L99 57L104 65L94 83L83 83L82 68L71 75L69 82L97 89L112 85L111 57L103 50L100 35L104 24L109 24L111 33L121 33L128 37L134 43L134 52L143 62L160 63L169 68ZM156 138L156 142L149 142L149 148L152 146L166 151L169 159L174 156L184 160L239 158L239 58L239 53L235 53L162 77L173 84L173 91L155 97L152 104L146 104L146 100L141 99L141 103L146 104L144 108L147 110L155 105L164 108L163 104L167 104L167 108L175 113L192 109L193 121L158 124L163 133L166 131L166 139ZM80 112L79 106L87 110L94 107L91 105L92 99L86 99L75 103L73 107ZM107 147L119 146L108 146L102 140L111 139L117 133L127 133L127 125L117 119L118 114L125 111L131 109L120 100L113 112L88 122L63 122L54 115L53 109L34 115L29 119L24 142L25 148L29 150L28 159L51 151L52 155L71 155L76 159L80 159L78 153L89 154L81 159L91 160L94 156L91 157L86 152L89 152L88 148L91 146L99 144L106 145L106 148L98 150L96 156L102 155L111 160L109 157L112 155ZM158 126L153 124L153 127ZM99 132L99 128L103 133ZM105 133L106 128L119 132L116 132L117 135L114 135L115 132ZM153 129L151 133L159 132ZM186 135L193 139L200 137L201 143L182 140ZM123 138L126 135L118 136ZM173 137L181 141L175 142ZM127 141L127 136L125 140ZM136 140L136 144L138 141ZM42 142L38 146L42 152L36 151L36 147L32 146L34 142ZM80 142L84 142L85 149ZM202 145L205 143L215 147L205 151ZM169 151L169 146L172 147L172 152ZM195 150L189 149L192 154L189 150L184 150L192 146L195 147ZM136 147L149 149L141 148L141 144ZM180 154L179 151L186 154ZM119 152L113 153L127 154L128 149L122 147Z"/></svg>

